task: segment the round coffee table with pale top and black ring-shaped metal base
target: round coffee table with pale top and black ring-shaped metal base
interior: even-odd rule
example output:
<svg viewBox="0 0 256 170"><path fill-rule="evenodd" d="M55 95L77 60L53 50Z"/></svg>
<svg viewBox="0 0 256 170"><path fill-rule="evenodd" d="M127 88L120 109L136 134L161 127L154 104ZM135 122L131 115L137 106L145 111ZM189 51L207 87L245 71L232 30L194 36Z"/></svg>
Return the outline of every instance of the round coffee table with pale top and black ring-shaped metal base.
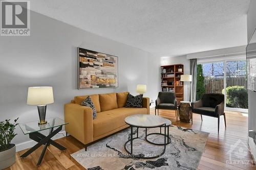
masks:
<svg viewBox="0 0 256 170"><path fill-rule="evenodd" d="M156 116L156 115L150 115L150 114L131 115L131 116L125 117L124 121L127 125L130 125L130 127L131 127L131 139L127 140L124 144L124 149L128 154L130 154L133 157L138 157L138 158L143 158L143 159L153 159L153 158L158 158L165 153L166 145L170 142L170 138L166 134L166 128L168 129L167 126L170 126L170 124L172 124L172 122L170 122L170 121L168 122L167 119L165 119L163 117ZM137 128L137 137L135 137L135 138L133 137L133 128L134 127ZM156 145L164 145L164 149L161 154L156 155L156 156L151 156L151 157L144 157L143 154L139 154L139 155L133 154L133 140L139 138L138 137L139 128L145 128L145 140L147 142L150 142L150 143L156 144ZM164 128L164 134L161 134L161 133L147 134L147 128L160 128L160 129ZM148 141L147 136L153 135L153 134L163 135L164 143L159 144L159 143L154 143L154 142ZM166 142L166 138L167 138L167 142ZM131 151L128 151L126 148L126 144L128 142L131 142Z"/></svg>

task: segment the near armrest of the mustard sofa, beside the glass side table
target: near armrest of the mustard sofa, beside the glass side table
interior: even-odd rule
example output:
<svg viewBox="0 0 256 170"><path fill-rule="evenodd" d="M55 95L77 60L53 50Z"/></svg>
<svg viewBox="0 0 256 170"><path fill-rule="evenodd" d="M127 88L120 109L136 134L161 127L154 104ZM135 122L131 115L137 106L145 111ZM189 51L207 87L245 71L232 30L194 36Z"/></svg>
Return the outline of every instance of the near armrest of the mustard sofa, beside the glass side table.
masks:
<svg viewBox="0 0 256 170"><path fill-rule="evenodd" d="M66 132L83 144L93 141L93 111L90 107L69 103L65 105Z"/></svg>

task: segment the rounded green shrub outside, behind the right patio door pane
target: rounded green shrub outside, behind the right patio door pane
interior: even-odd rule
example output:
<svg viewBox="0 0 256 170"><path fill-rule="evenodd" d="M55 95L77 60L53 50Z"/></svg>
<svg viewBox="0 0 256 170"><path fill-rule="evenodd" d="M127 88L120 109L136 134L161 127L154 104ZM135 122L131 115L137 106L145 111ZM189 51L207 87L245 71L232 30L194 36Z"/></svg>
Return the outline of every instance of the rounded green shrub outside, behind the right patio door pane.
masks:
<svg viewBox="0 0 256 170"><path fill-rule="evenodd" d="M246 88L244 86L227 87L226 105L227 107L248 109L248 93Z"/></svg>

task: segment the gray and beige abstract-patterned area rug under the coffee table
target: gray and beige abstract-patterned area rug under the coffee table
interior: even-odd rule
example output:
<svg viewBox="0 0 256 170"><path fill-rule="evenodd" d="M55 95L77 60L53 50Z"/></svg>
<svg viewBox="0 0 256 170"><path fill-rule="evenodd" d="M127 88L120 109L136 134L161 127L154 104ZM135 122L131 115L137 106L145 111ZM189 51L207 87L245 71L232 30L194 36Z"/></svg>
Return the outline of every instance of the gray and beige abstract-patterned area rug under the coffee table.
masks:
<svg viewBox="0 0 256 170"><path fill-rule="evenodd" d="M137 129L134 128L133 137ZM147 129L147 134L160 132L160 128ZM162 128L163 133L163 128ZM131 129L125 129L115 135L102 139L71 156L88 170L139 170L139 169L197 169L208 133L170 126L171 142L166 146L165 153L155 159L134 158L124 150L124 143L131 138ZM145 129L139 128L139 138L133 142L133 154L154 156L162 153L164 147L148 143L144 140ZM164 142L163 135L151 135L148 140L155 143ZM126 145L130 151L130 142Z"/></svg>

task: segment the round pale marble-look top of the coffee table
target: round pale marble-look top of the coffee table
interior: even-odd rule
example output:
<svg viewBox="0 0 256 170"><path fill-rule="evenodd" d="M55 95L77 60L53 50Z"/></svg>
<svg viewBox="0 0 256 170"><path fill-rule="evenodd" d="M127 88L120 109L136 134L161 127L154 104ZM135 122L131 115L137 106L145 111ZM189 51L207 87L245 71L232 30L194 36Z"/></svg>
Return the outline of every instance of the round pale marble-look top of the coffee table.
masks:
<svg viewBox="0 0 256 170"><path fill-rule="evenodd" d="M167 123L165 118L150 114L131 115L125 117L124 121L128 125L141 128L160 127Z"/></svg>

